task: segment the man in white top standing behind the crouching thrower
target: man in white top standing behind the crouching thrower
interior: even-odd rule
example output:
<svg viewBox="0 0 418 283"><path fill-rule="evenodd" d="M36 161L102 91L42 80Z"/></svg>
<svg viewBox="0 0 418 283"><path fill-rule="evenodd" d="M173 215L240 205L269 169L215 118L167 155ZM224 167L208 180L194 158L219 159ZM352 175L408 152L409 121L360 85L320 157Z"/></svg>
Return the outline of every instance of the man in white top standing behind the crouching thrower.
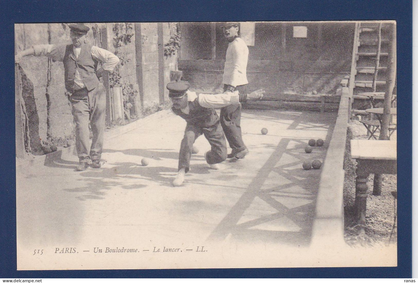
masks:
<svg viewBox="0 0 418 283"><path fill-rule="evenodd" d="M241 94L247 93L247 44L238 35L238 23L225 23L222 31L228 40L228 49L224 66L222 83L224 93L235 90ZM232 152L228 154L229 161L234 162L248 154L248 149L242 141L241 134L241 104L232 104L221 109L221 125Z"/></svg>

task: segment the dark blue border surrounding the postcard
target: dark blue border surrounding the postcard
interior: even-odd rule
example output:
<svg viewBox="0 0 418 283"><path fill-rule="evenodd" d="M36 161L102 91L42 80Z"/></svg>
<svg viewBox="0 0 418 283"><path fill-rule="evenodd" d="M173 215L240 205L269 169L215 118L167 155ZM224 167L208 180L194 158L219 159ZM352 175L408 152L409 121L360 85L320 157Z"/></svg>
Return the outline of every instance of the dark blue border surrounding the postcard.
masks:
<svg viewBox="0 0 418 283"><path fill-rule="evenodd" d="M412 1L10 1L1 5L0 277L4 278L411 278ZM398 23L398 267L16 271L14 23L228 20L396 20Z"/></svg>

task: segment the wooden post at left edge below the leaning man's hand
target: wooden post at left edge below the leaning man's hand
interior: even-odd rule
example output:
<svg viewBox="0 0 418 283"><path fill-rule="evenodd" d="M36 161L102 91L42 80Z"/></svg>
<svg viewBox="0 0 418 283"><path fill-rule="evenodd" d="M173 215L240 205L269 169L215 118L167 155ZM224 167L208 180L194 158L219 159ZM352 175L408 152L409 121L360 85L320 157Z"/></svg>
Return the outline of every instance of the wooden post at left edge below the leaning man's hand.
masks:
<svg viewBox="0 0 418 283"><path fill-rule="evenodd" d="M15 64L15 131L16 131L16 157L25 156L25 141L23 139L22 106L20 99L22 96L21 78L18 64Z"/></svg>

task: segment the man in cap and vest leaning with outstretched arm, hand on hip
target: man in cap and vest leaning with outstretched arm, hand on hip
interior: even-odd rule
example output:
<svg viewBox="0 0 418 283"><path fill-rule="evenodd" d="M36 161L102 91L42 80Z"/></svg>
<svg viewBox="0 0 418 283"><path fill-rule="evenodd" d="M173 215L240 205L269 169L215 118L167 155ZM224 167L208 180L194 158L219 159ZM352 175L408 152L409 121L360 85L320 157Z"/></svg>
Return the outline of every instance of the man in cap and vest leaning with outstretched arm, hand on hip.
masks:
<svg viewBox="0 0 418 283"><path fill-rule="evenodd" d="M106 90L100 81L104 71L112 71L119 63L115 54L86 43L90 30L83 24L70 24L69 45L34 45L15 56L19 63L23 56L48 56L64 63L65 88L71 96L72 114L76 123L76 148L79 157L77 171L89 167L100 168L106 112ZM97 69L99 62L102 66ZM89 122L93 141L89 147Z"/></svg>

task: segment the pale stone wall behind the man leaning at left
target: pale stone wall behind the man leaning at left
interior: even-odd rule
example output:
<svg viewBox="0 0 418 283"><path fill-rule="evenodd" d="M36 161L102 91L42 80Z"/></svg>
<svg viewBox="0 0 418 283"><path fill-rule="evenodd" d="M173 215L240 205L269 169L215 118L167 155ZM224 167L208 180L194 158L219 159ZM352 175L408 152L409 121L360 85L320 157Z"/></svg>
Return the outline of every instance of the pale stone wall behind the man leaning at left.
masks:
<svg viewBox="0 0 418 283"><path fill-rule="evenodd" d="M120 58L123 57L124 64L118 67L121 81L135 89L138 89L138 85L143 87L138 89L139 95L136 99L136 112L140 114L144 107L153 107L168 101L165 86L169 81L170 71L177 68L178 54L159 58L163 53L159 54L158 48L161 51L163 45L169 41L170 30L175 23L163 23L161 46L158 45L157 23L140 23L140 40L136 38L134 23L122 24L125 29L131 28L129 32L133 34L127 44L115 48L115 23L86 23L85 25L90 27L87 42L117 53ZM101 33L103 30L105 34ZM23 51L38 44L71 44L69 34L66 23L16 24L15 51ZM140 61L137 61L138 52L141 54ZM159 60L162 62L161 66ZM163 74L162 80L159 78L159 68L163 68L160 70ZM21 100L25 107L23 115L28 118L28 125L24 126L28 126L31 144L26 150L34 154L43 154L41 141L65 145L67 139L74 139L73 116L64 86L63 63L42 56L25 56L20 62L18 72L22 90ZM161 89L163 93L160 95Z"/></svg>

